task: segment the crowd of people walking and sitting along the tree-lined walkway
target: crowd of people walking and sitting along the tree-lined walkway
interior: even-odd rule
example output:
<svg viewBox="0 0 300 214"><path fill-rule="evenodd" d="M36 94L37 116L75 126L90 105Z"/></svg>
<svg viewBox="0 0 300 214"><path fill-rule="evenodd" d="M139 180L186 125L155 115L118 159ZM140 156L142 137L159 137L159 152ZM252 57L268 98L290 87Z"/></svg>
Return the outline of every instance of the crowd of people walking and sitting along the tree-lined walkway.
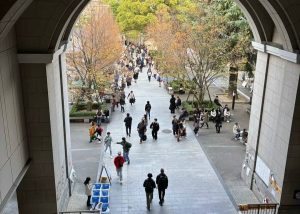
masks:
<svg viewBox="0 0 300 214"><path fill-rule="evenodd" d="M125 53L121 57L118 62L117 70L115 72L114 77L114 93L112 95L112 111L115 111L120 106L120 111L125 112L124 105L126 103L126 99L130 103L130 105L134 105L136 102L136 97L134 92L131 90L128 95L125 95L125 88L130 88L132 84L132 79L134 82L138 82L139 74L143 71L143 68L147 69L147 77L150 82L152 77L159 82L159 86L161 86L162 79L160 75L156 72L154 68L154 61L148 54L147 48L143 45L135 45L130 42L125 43ZM144 69L145 70L145 69ZM170 98L169 110L173 115L173 119L171 122L173 135L179 142L181 138L187 136L187 128L186 128L186 119L190 116L189 112L181 108L181 99L179 96L175 98L174 95L171 95ZM216 133L220 133L222 128L222 123L231 121L231 113L230 109L227 105L224 107L220 104L218 96L216 96L214 103L218 106L216 109L212 109L211 111L205 109L196 109L193 115L194 122L194 133L195 135L199 135L199 130L204 126L208 129L210 127L209 122L212 121L216 128ZM139 142L142 144L147 140L147 127L152 130L151 135L154 141L158 140L158 131L160 130L160 125L157 118L150 123L151 119L151 103L150 101L146 101L144 111L145 114L141 117L140 122L137 125L137 134L139 136ZM179 117L175 114L175 111L181 110ZM98 115L99 114L99 115ZM104 142L104 151L107 152L109 150L110 157L113 158L113 153L111 149L111 145L113 139L111 137L111 133L107 132L104 140L102 140L103 128L101 127L101 121L105 115L101 110L97 112L95 120L91 123L91 127L89 129L90 134L90 143L95 141L98 143ZM127 113L124 118L124 125L126 129L126 137L131 137L132 134L132 116ZM247 142L248 133L246 129L241 131L239 124L235 123L233 126L233 134L235 140L242 140L243 143ZM123 165L127 163L130 165L129 152L132 147L132 144L127 141L126 137L122 137L120 142L116 142L122 146L123 152L118 152L117 156L114 158L113 163L116 168L117 176L119 178L120 184L123 182ZM89 191L89 182L90 178L87 178L85 181L86 185L86 193L90 193ZM162 206L164 203L164 195L165 189L168 187L168 178L164 172L164 169L161 169L160 174L156 177L156 181L152 179L152 173L148 173L147 179L143 183L143 187L145 188L146 198L147 198L147 209L150 210L150 205L152 203L153 191L157 187L159 194L159 204ZM88 194L87 194L88 195ZM88 195L89 196L89 195ZM87 205L90 205L90 197L88 197Z"/></svg>

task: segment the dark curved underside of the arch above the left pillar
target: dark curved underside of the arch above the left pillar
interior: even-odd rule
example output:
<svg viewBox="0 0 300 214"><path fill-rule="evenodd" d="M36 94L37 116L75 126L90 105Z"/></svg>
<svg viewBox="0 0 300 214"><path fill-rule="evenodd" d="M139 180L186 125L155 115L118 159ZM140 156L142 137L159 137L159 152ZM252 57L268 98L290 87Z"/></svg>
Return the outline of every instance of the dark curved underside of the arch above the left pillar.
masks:
<svg viewBox="0 0 300 214"><path fill-rule="evenodd" d="M34 0L16 24L18 51L55 52L73 14L85 0Z"/></svg>

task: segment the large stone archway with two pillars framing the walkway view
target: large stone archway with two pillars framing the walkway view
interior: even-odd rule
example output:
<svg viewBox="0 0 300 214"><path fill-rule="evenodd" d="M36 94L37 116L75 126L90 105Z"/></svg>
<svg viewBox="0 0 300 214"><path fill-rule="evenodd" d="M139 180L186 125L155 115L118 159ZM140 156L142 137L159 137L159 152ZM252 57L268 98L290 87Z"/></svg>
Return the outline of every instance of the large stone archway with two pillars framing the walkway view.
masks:
<svg viewBox="0 0 300 214"><path fill-rule="evenodd" d="M291 195L300 189L299 175L295 173L300 171L300 164L294 164L300 159L300 153L294 152L300 147L297 141L300 3L293 0L235 1L250 23L255 37L253 45L259 51L248 154L262 159L282 191L272 195L272 186L263 183L251 158L247 167L253 173L245 176L245 180L251 183L255 179L254 191L261 197L274 197L282 209L298 210L299 202ZM10 182L4 184L5 191L0 190L0 200L4 201L9 191L18 186L22 179L19 175L31 159L30 168L18 187L20 213L54 213L67 202L71 159L68 158L70 139L64 103L64 48L77 17L88 2L14 0L0 3L0 86L5 89L0 92L0 110L6 115L0 117L0 125L5 131L3 142L10 148L7 155L2 155L0 169L13 172ZM15 115L10 112L11 106ZM274 112L272 106L276 107ZM281 112L285 121L281 120ZM9 132L9 127L14 126L24 127L24 133L19 130L14 133L17 138ZM268 148L274 145L269 152ZM272 158L272 153L276 158ZM8 165L8 161L11 164ZM291 179L294 175L298 177ZM4 178L0 176L1 183Z"/></svg>

